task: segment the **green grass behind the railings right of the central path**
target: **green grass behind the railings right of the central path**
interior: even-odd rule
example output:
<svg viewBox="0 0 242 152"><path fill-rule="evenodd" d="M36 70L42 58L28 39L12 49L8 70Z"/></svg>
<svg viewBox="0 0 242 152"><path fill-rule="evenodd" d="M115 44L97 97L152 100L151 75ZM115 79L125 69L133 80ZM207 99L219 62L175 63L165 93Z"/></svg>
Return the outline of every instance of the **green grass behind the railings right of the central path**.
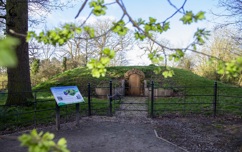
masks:
<svg viewBox="0 0 242 152"><path fill-rule="evenodd" d="M176 88L179 94L174 97L155 97L154 115L204 114L213 115L215 97L213 87ZM217 115L242 117L242 88L218 87L216 100Z"/></svg>

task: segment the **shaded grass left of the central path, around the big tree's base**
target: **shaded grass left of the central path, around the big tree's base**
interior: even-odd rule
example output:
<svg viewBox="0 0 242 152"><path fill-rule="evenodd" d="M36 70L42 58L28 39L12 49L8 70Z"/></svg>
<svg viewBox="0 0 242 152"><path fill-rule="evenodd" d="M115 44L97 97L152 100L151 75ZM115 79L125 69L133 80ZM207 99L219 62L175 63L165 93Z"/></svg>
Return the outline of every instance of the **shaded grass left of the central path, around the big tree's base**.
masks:
<svg viewBox="0 0 242 152"><path fill-rule="evenodd" d="M55 123L56 102L50 92L36 93L36 102L27 106L0 106L0 130L14 130L18 127L47 125ZM88 99L80 103L81 116L88 115ZM109 104L107 99L91 98L92 115L108 115ZM60 107L61 121L75 120L76 105L70 104Z"/></svg>

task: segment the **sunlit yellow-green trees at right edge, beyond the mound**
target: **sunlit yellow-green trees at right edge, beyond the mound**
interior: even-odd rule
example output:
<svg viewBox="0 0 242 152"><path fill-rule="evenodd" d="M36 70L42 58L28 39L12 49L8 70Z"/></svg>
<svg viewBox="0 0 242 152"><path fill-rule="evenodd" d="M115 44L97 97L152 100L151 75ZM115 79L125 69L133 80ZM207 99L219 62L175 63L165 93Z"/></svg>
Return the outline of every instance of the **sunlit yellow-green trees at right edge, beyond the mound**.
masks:
<svg viewBox="0 0 242 152"><path fill-rule="evenodd" d="M210 41L203 46L202 52L217 59L209 56L198 56L195 73L214 80L240 84L241 74L231 77L226 73L219 73L219 69L223 69L221 66L223 66L224 61L231 62L242 56L241 44L228 33L231 31L227 29L216 31Z"/></svg>

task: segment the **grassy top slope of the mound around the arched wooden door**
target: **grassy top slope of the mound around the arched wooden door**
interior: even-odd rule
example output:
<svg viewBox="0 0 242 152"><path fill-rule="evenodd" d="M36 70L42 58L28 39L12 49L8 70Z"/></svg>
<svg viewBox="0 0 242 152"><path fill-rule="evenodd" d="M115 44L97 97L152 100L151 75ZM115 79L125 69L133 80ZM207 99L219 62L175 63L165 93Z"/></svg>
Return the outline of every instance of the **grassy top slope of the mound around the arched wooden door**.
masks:
<svg viewBox="0 0 242 152"><path fill-rule="evenodd" d="M161 74L155 75L153 70L154 66L120 66L108 67L105 77L94 78L90 70L87 68L76 68L54 76L52 79L40 83L34 87L34 90L48 90L52 86L66 86L77 85L81 88L87 87L88 83L91 85L98 85L100 83L108 82L110 80L124 79L124 74L131 69L138 69L144 72L145 79L154 82L163 82L162 85L166 86L201 86L213 85L214 81L200 77L190 71L173 68L175 75L172 78L164 78ZM107 84L108 86L108 84Z"/></svg>

